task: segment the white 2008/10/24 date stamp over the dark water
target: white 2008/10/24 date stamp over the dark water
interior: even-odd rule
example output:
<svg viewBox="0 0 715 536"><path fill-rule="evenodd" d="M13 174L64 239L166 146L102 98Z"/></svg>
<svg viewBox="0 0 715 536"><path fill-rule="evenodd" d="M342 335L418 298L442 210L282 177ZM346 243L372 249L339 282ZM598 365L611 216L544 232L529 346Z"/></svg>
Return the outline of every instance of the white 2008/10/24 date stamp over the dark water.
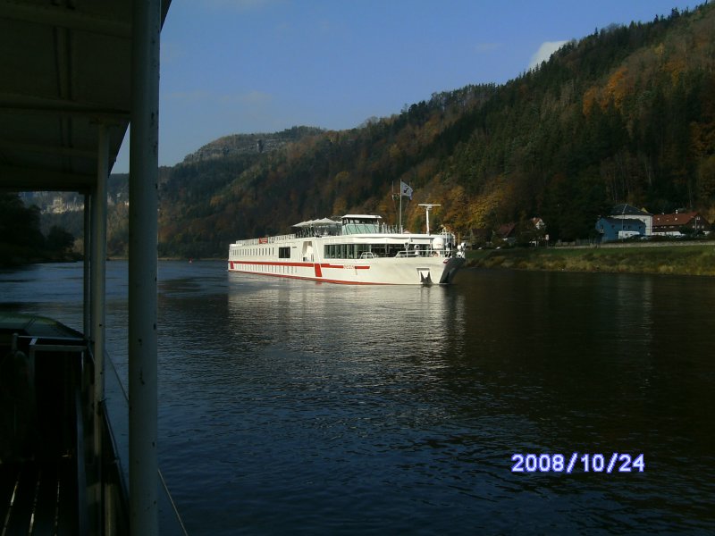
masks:
<svg viewBox="0 0 715 536"><path fill-rule="evenodd" d="M613 452L604 454L571 453L567 459L563 454L515 454L511 456L514 465L512 473L643 473L645 471L645 458L643 454L631 456L630 454Z"/></svg>

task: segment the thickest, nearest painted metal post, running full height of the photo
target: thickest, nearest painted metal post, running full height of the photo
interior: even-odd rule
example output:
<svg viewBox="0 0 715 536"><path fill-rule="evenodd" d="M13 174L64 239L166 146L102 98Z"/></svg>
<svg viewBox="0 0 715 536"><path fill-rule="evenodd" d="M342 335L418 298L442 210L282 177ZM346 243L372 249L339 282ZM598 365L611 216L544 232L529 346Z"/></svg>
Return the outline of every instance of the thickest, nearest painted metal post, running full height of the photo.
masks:
<svg viewBox="0 0 715 536"><path fill-rule="evenodd" d="M132 3L129 236L130 533L158 534L156 210L161 2Z"/></svg>

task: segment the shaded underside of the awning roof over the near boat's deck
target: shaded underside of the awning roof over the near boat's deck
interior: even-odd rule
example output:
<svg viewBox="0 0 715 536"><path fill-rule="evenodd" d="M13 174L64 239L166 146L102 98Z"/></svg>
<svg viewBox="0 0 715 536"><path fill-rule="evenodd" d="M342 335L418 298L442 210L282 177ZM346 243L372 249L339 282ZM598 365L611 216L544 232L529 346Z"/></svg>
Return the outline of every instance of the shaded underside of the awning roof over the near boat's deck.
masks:
<svg viewBox="0 0 715 536"><path fill-rule="evenodd" d="M130 121L131 4L0 0L0 188L89 188L99 123L111 169Z"/></svg>

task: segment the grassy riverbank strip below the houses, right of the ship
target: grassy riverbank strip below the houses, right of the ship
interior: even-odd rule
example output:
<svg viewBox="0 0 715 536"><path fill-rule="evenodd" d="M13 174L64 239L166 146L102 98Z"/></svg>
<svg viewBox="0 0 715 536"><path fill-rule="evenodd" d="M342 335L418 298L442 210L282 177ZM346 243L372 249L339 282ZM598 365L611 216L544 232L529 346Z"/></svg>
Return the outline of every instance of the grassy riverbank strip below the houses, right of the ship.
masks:
<svg viewBox="0 0 715 536"><path fill-rule="evenodd" d="M715 242L486 249L468 252L469 266L553 272L715 276Z"/></svg>

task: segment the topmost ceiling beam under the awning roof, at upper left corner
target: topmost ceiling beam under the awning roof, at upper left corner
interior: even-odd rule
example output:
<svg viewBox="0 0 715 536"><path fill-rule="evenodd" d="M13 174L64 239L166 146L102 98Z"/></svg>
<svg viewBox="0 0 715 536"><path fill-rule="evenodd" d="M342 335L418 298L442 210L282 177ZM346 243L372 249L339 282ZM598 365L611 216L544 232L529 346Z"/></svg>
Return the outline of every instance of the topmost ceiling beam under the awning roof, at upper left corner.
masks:
<svg viewBox="0 0 715 536"><path fill-rule="evenodd" d="M16 0L0 0L0 18L78 29L117 38L131 38L129 22L80 13L63 5L25 4Z"/></svg>

